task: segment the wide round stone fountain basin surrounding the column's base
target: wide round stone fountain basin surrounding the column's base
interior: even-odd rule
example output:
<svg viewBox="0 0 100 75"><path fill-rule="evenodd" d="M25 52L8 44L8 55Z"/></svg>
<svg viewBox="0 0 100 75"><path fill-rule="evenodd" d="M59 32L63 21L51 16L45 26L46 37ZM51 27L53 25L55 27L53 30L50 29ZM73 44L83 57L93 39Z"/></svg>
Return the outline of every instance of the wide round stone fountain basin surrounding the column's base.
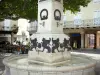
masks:
<svg viewBox="0 0 100 75"><path fill-rule="evenodd" d="M63 65L46 66L29 63L27 55L12 55L3 60L4 75L95 75L96 62L85 56L72 55Z"/></svg>

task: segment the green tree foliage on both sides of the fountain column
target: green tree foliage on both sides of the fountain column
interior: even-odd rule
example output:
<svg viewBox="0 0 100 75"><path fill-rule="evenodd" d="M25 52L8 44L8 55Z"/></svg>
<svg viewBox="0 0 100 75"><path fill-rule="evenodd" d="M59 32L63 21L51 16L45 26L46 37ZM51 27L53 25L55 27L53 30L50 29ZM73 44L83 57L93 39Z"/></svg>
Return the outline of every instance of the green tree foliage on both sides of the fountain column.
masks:
<svg viewBox="0 0 100 75"><path fill-rule="evenodd" d="M91 0L64 0L64 11L73 13L80 11L80 7L86 7ZM37 19L38 0L1 0L0 20L26 18L30 21Z"/></svg>

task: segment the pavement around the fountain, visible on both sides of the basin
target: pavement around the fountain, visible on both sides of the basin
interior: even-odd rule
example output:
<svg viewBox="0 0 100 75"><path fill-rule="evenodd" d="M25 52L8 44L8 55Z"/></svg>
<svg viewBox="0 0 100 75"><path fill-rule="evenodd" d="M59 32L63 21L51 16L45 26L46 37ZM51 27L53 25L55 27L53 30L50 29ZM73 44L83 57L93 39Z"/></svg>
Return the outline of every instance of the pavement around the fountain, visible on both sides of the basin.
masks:
<svg viewBox="0 0 100 75"><path fill-rule="evenodd" d="M72 54L81 54L85 56L89 56L90 58L94 59L97 64L95 68L96 75L100 75L100 50L73 50L71 52ZM6 56L9 56L9 54L5 54ZM2 60L6 57L5 55L0 54L0 75L3 73L5 67L2 63Z"/></svg>

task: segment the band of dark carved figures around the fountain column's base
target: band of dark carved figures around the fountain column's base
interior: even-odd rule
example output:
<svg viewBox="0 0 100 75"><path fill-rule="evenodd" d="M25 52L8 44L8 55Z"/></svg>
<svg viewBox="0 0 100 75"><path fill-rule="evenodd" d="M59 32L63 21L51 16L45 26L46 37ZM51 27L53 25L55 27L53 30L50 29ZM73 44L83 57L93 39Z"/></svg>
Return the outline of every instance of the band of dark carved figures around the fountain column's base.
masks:
<svg viewBox="0 0 100 75"><path fill-rule="evenodd" d="M51 44L52 42L52 44ZM60 39L51 39L47 40L46 38L42 39L42 42L38 42L37 38L31 40L32 48L34 48L37 52L44 52L45 50L47 53L55 53L55 50L58 52L64 52L66 49L68 51L71 50L71 47L69 47L69 40L66 40L64 38L63 43L60 43Z"/></svg>

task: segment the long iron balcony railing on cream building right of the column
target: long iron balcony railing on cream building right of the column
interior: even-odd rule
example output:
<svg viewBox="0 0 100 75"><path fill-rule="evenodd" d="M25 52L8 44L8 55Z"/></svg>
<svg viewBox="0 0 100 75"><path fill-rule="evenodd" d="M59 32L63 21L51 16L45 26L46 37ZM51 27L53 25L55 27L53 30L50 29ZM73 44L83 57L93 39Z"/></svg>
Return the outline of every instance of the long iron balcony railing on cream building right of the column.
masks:
<svg viewBox="0 0 100 75"><path fill-rule="evenodd" d="M100 18L87 20L74 20L64 22L64 28L81 28L81 27L98 27L100 26Z"/></svg>

